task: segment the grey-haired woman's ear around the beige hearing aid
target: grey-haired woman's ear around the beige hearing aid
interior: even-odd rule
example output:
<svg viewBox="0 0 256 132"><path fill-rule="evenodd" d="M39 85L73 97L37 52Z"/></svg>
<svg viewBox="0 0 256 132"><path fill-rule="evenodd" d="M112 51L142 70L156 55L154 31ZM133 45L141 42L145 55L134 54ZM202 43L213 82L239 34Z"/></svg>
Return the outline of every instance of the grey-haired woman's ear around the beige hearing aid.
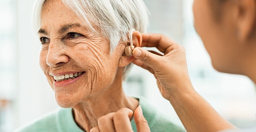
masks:
<svg viewBox="0 0 256 132"><path fill-rule="evenodd" d="M142 44L142 35L138 31L134 31L132 33L132 43L134 47L140 47ZM124 67L127 66L128 64L132 63L134 60L134 56L127 56L125 53L120 57L118 66L119 67Z"/></svg>

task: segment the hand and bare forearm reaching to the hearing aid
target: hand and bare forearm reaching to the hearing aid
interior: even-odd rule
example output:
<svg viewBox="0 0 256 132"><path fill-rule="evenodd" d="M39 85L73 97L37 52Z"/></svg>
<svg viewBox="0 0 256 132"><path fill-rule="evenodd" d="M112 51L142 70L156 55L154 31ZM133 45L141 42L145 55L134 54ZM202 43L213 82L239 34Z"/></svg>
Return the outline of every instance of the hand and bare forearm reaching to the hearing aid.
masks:
<svg viewBox="0 0 256 132"><path fill-rule="evenodd" d="M162 96L170 101L188 132L236 128L194 90L183 46L162 34L142 34L142 46L156 47L163 55L137 47L132 52L137 58L133 63L154 74Z"/></svg>

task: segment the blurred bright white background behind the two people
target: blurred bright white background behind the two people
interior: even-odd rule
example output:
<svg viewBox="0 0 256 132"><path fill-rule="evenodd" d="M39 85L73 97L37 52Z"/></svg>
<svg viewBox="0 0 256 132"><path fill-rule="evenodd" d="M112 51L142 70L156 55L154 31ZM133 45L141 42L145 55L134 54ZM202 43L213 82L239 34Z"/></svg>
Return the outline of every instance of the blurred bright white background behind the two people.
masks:
<svg viewBox="0 0 256 132"><path fill-rule="evenodd" d="M193 0L144 0L150 10L148 32L163 33L186 48L194 88L239 128L256 125L254 84L246 77L216 72L193 27ZM40 41L33 30L34 0L0 0L0 132L11 132L58 108L42 73ZM210 31L209 31L210 32ZM133 66L124 82L131 96L144 96L182 126L158 92L154 76Z"/></svg>

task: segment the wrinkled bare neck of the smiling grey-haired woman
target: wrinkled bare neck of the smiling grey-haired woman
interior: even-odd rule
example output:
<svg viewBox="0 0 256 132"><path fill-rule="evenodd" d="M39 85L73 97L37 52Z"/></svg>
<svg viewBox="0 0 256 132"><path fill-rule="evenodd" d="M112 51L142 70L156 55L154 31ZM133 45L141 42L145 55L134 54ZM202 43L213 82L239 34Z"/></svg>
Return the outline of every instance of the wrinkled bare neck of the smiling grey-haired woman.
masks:
<svg viewBox="0 0 256 132"><path fill-rule="evenodd" d="M124 107L134 111L138 107L138 100L126 96L120 87L109 88L98 96L78 103L73 107L73 115L78 126L89 132L91 128L98 126L98 118Z"/></svg>

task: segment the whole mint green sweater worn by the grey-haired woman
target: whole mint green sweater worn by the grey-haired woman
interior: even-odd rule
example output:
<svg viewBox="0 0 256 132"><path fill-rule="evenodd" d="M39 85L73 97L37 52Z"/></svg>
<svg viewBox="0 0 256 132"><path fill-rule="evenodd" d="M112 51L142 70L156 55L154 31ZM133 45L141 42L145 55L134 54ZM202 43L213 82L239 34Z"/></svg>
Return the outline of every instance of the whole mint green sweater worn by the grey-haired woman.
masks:
<svg viewBox="0 0 256 132"><path fill-rule="evenodd" d="M168 116L156 110L144 98L139 97L143 115L148 121L151 132L184 132L173 124ZM134 132L137 132L134 120L131 121ZM60 108L32 122L15 132L84 132L73 118L72 108Z"/></svg>

